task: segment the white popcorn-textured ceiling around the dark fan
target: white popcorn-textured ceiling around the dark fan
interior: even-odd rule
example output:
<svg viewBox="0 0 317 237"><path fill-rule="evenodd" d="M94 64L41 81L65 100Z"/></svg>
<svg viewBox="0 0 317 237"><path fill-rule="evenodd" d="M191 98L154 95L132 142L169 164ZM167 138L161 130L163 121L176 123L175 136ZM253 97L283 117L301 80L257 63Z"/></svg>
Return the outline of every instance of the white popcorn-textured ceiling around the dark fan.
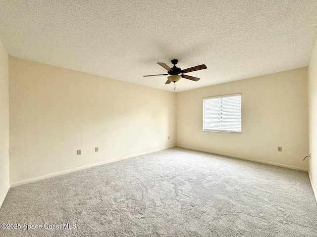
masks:
<svg viewBox="0 0 317 237"><path fill-rule="evenodd" d="M316 36L316 0L0 0L9 55L167 91L157 62L207 65L175 92L307 66Z"/></svg>

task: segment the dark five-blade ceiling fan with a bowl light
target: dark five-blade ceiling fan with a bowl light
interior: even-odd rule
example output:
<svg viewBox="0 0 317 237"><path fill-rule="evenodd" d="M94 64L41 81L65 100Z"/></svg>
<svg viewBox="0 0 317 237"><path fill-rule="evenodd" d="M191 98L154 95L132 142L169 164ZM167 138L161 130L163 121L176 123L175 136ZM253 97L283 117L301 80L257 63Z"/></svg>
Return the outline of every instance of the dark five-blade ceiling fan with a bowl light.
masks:
<svg viewBox="0 0 317 237"><path fill-rule="evenodd" d="M162 66L163 68L165 68L167 70L168 74L146 75L144 77L168 76L169 75L167 77L168 80L165 82L165 84L169 84L171 82L173 82L173 83L178 82L181 78L186 78L186 79L189 79L189 80L197 82L198 80L200 80L200 78L184 75L183 73L194 72L194 71L198 71L198 70L202 70L202 69L206 69L207 68L205 64L202 64L202 65L199 65L199 66L196 66L196 67L190 67L190 68L182 70L179 67L176 67L177 62L178 62L177 59L172 59L171 60L171 63L174 65L172 68L170 68L169 66L167 66L163 62L158 62L158 64L160 66ZM181 75L179 75L179 74L181 74ZM175 88L174 88L174 90L175 90Z"/></svg>

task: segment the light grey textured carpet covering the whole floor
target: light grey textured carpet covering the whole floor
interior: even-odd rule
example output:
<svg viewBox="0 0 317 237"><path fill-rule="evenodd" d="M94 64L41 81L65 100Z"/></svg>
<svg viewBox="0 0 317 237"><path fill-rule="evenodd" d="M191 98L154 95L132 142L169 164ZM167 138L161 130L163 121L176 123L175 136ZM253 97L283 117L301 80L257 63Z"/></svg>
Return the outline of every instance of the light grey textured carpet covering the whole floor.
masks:
<svg viewBox="0 0 317 237"><path fill-rule="evenodd" d="M11 188L0 223L21 224L1 237L316 237L317 203L306 172L175 147Z"/></svg>

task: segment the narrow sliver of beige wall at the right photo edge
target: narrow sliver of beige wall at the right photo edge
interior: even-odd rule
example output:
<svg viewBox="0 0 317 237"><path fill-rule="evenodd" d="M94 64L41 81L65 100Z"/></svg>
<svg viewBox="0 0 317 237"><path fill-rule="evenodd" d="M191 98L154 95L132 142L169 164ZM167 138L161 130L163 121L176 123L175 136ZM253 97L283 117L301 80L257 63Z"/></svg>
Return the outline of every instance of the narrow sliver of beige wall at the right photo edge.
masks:
<svg viewBox="0 0 317 237"><path fill-rule="evenodd" d="M309 138L311 159L309 172L317 199L317 42L308 66Z"/></svg>

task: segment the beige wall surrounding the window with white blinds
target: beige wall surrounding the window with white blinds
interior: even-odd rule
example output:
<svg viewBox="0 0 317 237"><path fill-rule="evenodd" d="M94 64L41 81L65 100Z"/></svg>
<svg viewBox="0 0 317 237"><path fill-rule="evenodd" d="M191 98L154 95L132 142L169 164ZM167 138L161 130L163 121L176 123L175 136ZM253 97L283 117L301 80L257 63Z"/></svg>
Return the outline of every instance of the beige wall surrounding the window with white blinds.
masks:
<svg viewBox="0 0 317 237"><path fill-rule="evenodd" d="M203 132L203 97L235 93L242 94L242 134ZM307 68L181 92L176 100L177 145L308 169Z"/></svg>

